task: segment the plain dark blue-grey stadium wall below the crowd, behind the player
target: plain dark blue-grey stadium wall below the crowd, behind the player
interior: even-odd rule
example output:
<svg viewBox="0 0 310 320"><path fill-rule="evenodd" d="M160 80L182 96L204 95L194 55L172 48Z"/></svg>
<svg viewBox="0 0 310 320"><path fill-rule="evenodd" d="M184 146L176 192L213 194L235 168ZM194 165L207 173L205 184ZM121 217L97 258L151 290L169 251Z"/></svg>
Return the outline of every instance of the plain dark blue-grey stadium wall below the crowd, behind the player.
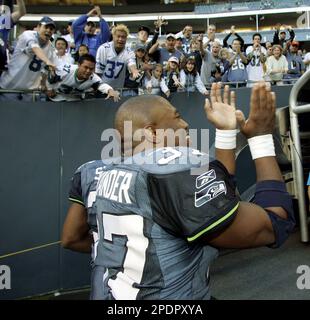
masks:
<svg viewBox="0 0 310 320"><path fill-rule="evenodd" d="M278 107L288 104L290 90L274 88ZM237 105L247 115L250 89L236 91ZM210 129L213 143L204 97L179 93L171 100L191 128ZM11 269L11 289L0 286L0 299L89 285L90 257L64 250L58 241L69 206L70 178L80 164L100 158L102 131L113 127L118 106L101 99L1 103L0 266ZM241 192L255 182L249 160L249 153L238 159Z"/></svg>

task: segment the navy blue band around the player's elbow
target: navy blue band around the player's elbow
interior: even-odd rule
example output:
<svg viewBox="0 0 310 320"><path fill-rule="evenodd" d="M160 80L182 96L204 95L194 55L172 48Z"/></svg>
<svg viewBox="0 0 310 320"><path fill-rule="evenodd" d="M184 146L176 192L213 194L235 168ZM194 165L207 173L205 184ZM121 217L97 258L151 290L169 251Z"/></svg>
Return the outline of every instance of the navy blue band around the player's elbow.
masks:
<svg viewBox="0 0 310 320"><path fill-rule="evenodd" d="M286 211L287 219L283 219L270 210L266 210L275 233L275 242L270 247L280 247L295 227L292 198L286 191L285 183L276 180L258 182L253 203L264 209L268 207L281 207Z"/></svg>

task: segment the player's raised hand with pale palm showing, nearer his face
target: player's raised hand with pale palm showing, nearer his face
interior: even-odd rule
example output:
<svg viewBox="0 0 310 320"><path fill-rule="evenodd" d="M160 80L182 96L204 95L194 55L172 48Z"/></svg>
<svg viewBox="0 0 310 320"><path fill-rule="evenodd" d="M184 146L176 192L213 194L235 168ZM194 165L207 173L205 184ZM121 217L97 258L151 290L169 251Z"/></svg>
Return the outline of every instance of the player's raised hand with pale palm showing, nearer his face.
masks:
<svg viewBox="0 0 310 320"><path fill-rule="evenodd" d="M225 86L222 97L221 83L213 83L210 92L210 100L206 99L205 111L208 120L221 130L236 129L236 95L230 92L229 86Z"/></svg>

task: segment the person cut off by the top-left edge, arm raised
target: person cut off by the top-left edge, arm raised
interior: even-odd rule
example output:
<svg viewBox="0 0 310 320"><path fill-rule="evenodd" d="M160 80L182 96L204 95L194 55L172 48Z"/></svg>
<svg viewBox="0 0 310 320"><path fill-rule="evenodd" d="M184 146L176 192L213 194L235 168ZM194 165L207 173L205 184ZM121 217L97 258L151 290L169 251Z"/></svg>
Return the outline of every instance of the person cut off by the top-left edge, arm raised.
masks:
<svg viewBox="0 0 310 320"><path fill-rule="evenodd" d="M24 0L16 0L17 6L1 5L0 21L0 75L7 70L9 33L16 22L26 14ZM13 11L13 12L12 12ZM11 13L12 12L12 13Z"/></svg>

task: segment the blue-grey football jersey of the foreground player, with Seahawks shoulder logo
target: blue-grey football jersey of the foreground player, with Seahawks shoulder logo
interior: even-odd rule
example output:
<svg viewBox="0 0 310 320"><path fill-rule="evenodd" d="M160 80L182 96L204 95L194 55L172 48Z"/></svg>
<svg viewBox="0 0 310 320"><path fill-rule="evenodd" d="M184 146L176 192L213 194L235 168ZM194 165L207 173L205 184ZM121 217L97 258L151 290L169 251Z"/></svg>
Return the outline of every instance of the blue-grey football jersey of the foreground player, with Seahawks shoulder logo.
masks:
<svg viewBox="0 0 310 320"><path fill-rule="evenodd" d="M218 252L204 238L231 223L239 199L220 162L191 174L206 159L198 150L163 148L103 170L94 206L104 299L210 298Z"/></svg>

